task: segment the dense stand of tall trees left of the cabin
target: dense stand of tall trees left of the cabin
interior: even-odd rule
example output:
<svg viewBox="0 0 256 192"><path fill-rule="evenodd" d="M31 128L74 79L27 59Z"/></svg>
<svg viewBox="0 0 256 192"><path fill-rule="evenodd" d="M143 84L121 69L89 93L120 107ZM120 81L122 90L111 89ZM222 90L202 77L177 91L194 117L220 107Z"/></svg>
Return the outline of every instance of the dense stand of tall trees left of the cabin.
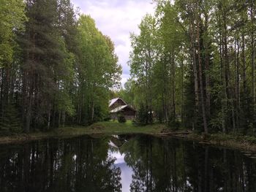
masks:
<svg viewBox="0 0 256 192"><path fill-rule="evenodd" d="M108 113L114 45L69 0L0 0L0 130L88 124Z"/></svg>

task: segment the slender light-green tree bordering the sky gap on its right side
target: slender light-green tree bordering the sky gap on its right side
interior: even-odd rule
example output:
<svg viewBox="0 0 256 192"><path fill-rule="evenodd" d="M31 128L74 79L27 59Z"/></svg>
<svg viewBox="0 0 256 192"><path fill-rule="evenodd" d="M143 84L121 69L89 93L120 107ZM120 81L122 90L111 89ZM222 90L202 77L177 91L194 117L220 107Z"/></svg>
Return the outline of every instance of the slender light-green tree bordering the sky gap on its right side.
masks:
<svg viewBox="0 0 256 192"><path fill-rule="evenodd" d="M156 20L151 15L146 15L140 23L140 35L131 35L132 52L130 53L129 65L131 66L132 78L137 81L140 89L140 102L146 107L146 111L152 113L152 69L156 64L157 50L155 31ZM149 115L150 116L150 115ZM151 117L146 118L146 124L151 123Z"/></svg>

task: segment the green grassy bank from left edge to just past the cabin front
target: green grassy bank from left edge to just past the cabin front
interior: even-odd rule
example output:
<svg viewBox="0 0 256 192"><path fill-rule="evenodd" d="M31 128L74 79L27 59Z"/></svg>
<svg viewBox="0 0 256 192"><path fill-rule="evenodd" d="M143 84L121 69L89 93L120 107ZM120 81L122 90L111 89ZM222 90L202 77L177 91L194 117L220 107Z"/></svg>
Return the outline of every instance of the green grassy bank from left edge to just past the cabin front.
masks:
<svg viewBox="0 0 256 192"><path fill-rule="evenodd" d="M0 137L1 143L25 142L37 139L67 138L86 134L157 134L166 128L161 124L148 126L134 126L132 121L118 123L118 121L106 121L94 123L91 126L75 126L67 128L57 128L48 132L37 132L31 134L14 134L12 136Z"/></svg>

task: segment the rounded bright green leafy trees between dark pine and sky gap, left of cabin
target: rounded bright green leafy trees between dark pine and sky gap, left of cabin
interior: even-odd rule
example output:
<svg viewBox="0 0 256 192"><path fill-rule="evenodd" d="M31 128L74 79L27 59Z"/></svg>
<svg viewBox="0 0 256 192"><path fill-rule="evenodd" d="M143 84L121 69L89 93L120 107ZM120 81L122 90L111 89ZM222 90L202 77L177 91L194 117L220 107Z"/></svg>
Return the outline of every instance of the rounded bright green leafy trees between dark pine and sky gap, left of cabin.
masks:
<svg viewBox="0 0 256 192"><path fill-rule="evenodd" d="M108 116L108 92L118 86L121 66L113 42L96 28L94 20L81 15L78 23L78 97L84 98L83 103L78 101L83 107L78 114L84 115L83 123L93 123Z"/></svg>

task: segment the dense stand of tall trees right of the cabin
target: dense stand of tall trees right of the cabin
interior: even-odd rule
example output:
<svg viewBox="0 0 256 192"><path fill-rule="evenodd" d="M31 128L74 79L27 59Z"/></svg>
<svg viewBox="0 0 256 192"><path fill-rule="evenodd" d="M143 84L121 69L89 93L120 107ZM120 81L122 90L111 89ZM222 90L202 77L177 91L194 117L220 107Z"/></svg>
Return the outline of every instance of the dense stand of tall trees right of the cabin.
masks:
<svg viewBox="0 0 256 192"><path fill-rule="evenodd" d="M255 1L155 1L132 34L121 95L158 120L206 134L253 134Z"/></svg>

